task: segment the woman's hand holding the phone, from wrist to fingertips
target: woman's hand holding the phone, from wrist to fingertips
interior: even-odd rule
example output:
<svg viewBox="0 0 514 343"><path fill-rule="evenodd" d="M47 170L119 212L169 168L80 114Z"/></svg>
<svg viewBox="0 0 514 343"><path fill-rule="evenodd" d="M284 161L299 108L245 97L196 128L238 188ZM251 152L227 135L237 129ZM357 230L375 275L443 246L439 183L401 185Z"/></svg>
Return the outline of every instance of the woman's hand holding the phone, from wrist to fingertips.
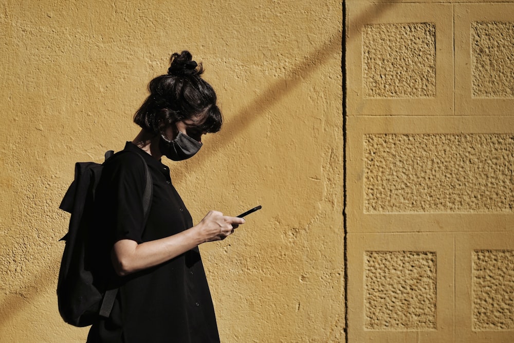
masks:
<svg viewBox="0 0 514 343"><path fill-rule="evenodd" d="M234 233L234 229L244 224L243 218L223 215L222 212L210 211L202 219L196 229L203 242L219 241Z"/></svg>

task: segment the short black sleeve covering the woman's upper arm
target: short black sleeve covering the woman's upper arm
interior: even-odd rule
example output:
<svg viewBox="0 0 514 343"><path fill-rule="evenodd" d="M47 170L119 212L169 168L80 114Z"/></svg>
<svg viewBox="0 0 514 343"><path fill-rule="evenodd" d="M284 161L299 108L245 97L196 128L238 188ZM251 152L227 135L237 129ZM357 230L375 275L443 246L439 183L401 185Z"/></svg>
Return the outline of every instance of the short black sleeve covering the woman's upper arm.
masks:
<svg viewBox="0 0 514 343"><path fill-rule="evenodd" d="M142 242L144 230L144 161L135 152L120 152L102 170L96 194L96 209L112 243L130 239Z"/></svg>

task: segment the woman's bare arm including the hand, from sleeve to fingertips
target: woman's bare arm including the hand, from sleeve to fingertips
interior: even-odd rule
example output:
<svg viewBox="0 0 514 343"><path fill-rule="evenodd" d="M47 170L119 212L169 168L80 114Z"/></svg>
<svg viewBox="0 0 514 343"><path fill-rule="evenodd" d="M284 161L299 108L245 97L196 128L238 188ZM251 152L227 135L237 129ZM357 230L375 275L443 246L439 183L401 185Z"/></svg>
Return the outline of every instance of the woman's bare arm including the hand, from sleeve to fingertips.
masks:
<svg viewBox="0 0 514 343"><path fill-rule="evenodd" d="M138 244L124 239L116 242L112 250L112 262L120 276L137 272L169 261L195 246L225 239L233 228L244 224L243 218L210 211L200 223L173 236Z"/></svg>

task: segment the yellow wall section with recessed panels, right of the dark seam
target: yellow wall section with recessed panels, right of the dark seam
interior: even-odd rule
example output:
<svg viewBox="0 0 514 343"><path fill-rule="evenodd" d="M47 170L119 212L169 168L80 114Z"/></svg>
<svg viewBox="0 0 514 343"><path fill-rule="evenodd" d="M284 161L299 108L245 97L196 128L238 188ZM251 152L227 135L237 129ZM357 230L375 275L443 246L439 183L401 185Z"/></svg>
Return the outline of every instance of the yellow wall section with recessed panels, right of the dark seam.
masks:
<svg viewBox="0 0 514 343"><path fill-rule="evenodd" d="M348 341L512 342L514 2L345 5Z"/></svg>

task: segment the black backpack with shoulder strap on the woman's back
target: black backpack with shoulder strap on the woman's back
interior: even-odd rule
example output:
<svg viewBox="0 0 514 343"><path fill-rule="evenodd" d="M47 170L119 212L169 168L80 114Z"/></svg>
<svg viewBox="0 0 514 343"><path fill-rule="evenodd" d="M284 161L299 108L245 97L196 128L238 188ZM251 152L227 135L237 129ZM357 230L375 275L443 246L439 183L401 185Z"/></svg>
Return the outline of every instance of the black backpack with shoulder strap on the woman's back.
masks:
<svg viewBox="0 0 514 343"><path fill-rule="evenodd" d="M119 153L126 153L120 151ZM143 156L146 185L143 193L144 219L150 211L152 201L152 176ZM105 153L105 161L113 156L109 150ZM87 235L90 220L93 217L95 191L102 174L103 164L79 162L75 164L75 179L69 186L59 206L71 213L68 233L61 239L66 241L59 269L57 283L57 300L59 313L65 322L85 327L93 324L97 317L108 317L111 314L118 288L100 290L94 285L93 273L85 264Z"/></svg>

